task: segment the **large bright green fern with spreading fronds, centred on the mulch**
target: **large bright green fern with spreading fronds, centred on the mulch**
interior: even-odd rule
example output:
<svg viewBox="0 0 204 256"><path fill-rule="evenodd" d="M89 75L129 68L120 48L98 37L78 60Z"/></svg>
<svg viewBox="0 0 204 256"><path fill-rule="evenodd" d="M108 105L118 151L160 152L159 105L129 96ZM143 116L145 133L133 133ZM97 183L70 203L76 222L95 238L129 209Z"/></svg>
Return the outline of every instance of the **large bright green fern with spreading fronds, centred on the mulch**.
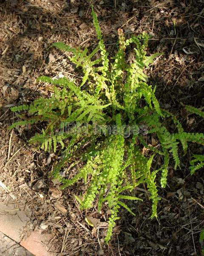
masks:
<svg viewBox="0 0 204 256"><path fill-rule="evenodd" d="M156 87L147 84L147 76L143 71L158 56L147 56L145 49L148 35L131 35L129 39L125 39L122 29L118 29L118 49L110 59L93 8L92 16L99 41L92 52L87 48L72 48L62 42L51 46L70 53L68 58L84 73L81 83L77 84L65 77L51 79L41 76L38 81L51 84L54 93L48 98L40 97L30 105L11 108L11 111L21 111L24 114L20 115L23 120L12 124L10 129L37 122L45 124L42 133L31 137L29 142L40 143L45 151L62 155L51 173L52 177L62 183L62 189L79 180L88 184L85 195L76 195L82 209L89 209L97 202L100 211L104 203L108 202L112 213L105 238L108 242L119 218L119 208L124 207L135 215L125 201L142 200L134 196L134 189L141 183L146 184L150 192L150 217L157 218L157 177L160 177L161 186L165 187L170 157L173 157L175 169L180 166L179 143L185 153L188 142L203 144L204 134L184 132L176 117L159 107L155 96ZM131 64L125 58L130 44L134 51L134 61ZM100 54L100 58L96 57L96 53ZM164 126L165 119L171 119L175 123L176 133L170 133ZM57 131L60 125L73 123L74 128L69 129L69 132ZM94 131L95 123L101 127L111 127L111 132L105 129L102 129L102 133ZM78 127L76 124L79 124ZM125 135L128 129L138 128L138 124L143 125L140 132ZM148 134L153 134L158 140L158 147L147 145L143 135L147 128L144 125L148 127ZM61 128L63 131L63 127ZM148 134L145 136L149 136ZM147 148L149 153L144 154L142 148ZM158 155L163 163L155 169ZM76 175L69 172L72 175L70 179L60 175L62 167L68 166L68 170L71 170L79 162L81 167Z"/></svg>

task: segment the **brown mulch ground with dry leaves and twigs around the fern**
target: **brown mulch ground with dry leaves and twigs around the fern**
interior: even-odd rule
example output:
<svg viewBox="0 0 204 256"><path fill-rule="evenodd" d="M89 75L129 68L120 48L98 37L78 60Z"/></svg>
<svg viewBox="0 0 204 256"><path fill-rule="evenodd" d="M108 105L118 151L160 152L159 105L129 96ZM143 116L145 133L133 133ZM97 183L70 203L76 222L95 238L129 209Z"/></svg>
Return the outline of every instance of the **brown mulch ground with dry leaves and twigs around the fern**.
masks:
<svg viewBox="0 0 204 256"><path fill-rule="evenodd" d="M188 115L181 105L204 106L203 0L102 0L93 4L110 55L116 50L118 28L127 37L143 31L151 35L147 52L163 55L146 71L149 82L157 86L161 107L173 112L186 131L203 132L203 120ZM188 162L191 154L203 152L202 146L191 145L181 159L181 169L170 169L168 186L159 191L158 220L150 220L148 194L139 188L144 202L132 203L136 217L122 209L107 246L105 229L97 232L85 222L86 216L105 221L105 212L82 212L74 199L77 186L61 191L48 177L57 156L28 145L39 127L7 130L17 120L9 111L11 106L46 94L44 84L36 82L38 76L76 76L64 54L46 50L56 41L82 48L96 43L88 1L0 1L0 180L32 209L33 225L54 235L51 242L59 256L201 255L204 175L200 170L191 177Z"/></svg>

